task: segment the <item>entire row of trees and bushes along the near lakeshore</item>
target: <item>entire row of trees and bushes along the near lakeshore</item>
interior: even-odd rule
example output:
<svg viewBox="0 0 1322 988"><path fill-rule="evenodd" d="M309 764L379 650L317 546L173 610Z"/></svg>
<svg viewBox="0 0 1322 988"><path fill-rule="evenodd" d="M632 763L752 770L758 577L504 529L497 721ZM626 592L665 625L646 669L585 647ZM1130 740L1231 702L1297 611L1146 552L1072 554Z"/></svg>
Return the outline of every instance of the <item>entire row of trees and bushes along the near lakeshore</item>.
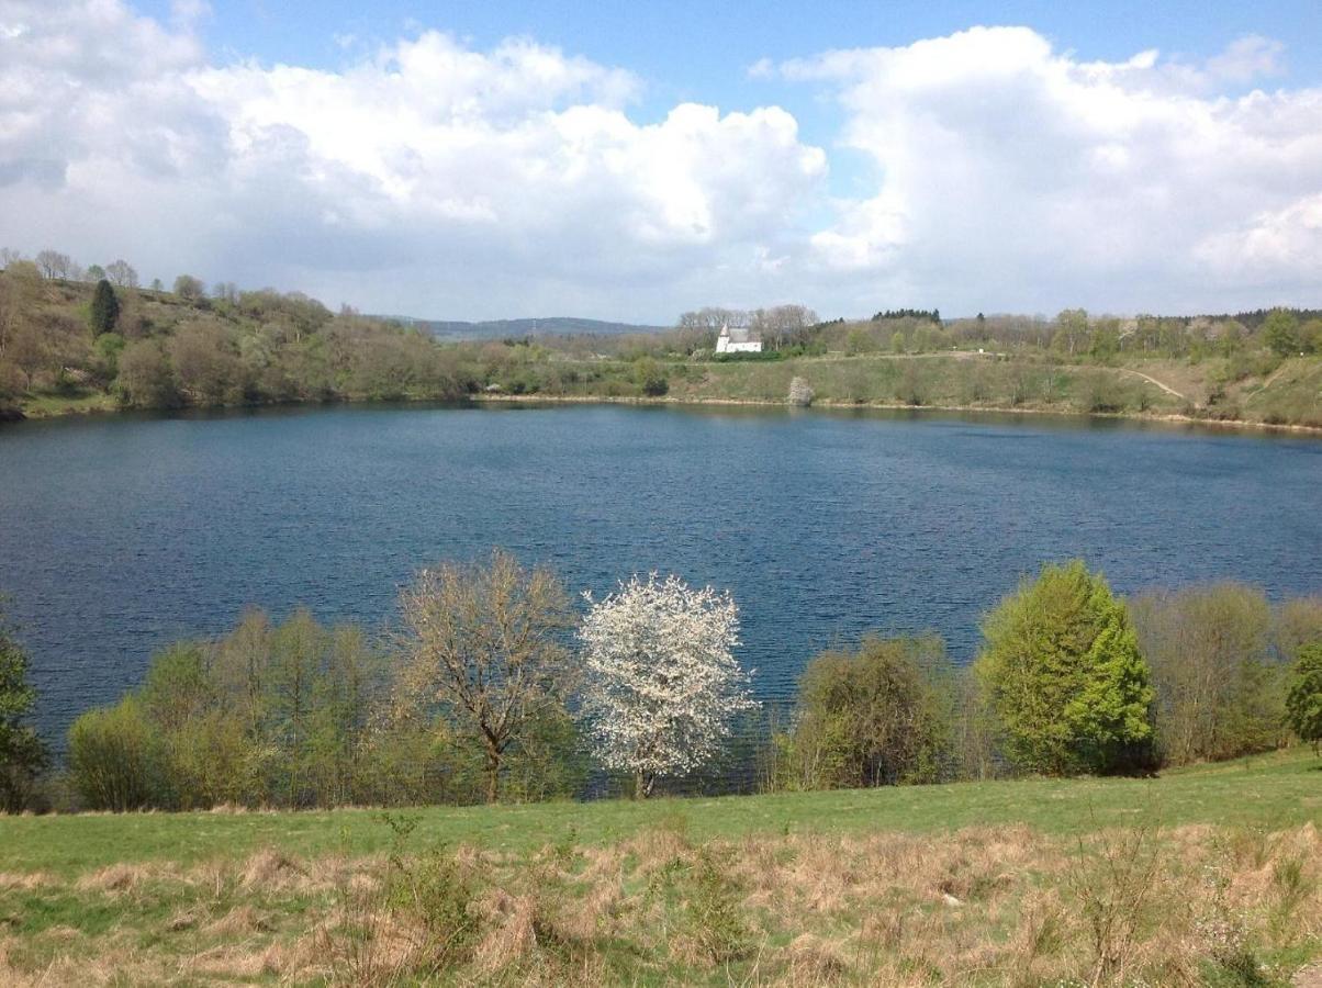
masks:
<svg viewBox="0 0 1322 988"><path fill-rule="evenodd" d="M0 630L7 810L645 798L734 757L764 790L1150 773L1322 744L1322 600L1236 582L1117 598L1081 561L995 606L957 668L933 633L806 666L788 721L739 666L728 593L635 576L586 598L496 551L422 571L375 638L253 612L78 717L59 773ZM724 761L722 761L722 758ZM740 767L735 765L734 767ZM755 771L750 771L755 770ZM727 779L728 785L728 779Z"/></svg>

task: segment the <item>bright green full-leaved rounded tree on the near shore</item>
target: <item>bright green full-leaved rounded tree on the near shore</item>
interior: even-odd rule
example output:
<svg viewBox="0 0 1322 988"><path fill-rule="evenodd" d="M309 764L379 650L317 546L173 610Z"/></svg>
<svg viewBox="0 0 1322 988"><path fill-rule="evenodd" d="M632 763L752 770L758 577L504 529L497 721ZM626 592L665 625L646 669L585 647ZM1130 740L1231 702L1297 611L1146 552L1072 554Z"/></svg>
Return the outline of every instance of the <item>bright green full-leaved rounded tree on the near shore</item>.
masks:
<svg viewBox="0 0 1322 988"><path fill-rule="evenodd" d="M1006 753L1048 775L1145 767L1153 688L1125 605L1081 560L1047 565L988 616L976 674Z"/></svg>

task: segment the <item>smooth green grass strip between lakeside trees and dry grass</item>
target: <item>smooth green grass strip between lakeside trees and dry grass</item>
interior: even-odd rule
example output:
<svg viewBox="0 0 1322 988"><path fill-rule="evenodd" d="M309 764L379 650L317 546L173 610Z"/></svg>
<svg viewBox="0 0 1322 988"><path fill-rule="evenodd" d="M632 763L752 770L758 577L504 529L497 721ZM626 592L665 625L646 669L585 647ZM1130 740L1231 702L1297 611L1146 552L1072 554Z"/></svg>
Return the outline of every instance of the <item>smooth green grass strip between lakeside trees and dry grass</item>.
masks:
<svg viewBox="0 0 1322 988"><path fill-rule="evenodd" d="M1141 823L1281 829L1322 826L1322 762L1303 749L1175 769L1151 779L956 782L715 799L602 800L500 807L423 807L422 841L524 853L562 840L607 844L682 819L697 839L768 833L932 833L1025 824L1079 833ZM262 848L303 856L371 855L390 829L375 810L308 812L82 814L0 816L0 872L77 874L118 863L193 864Z"/></svg>

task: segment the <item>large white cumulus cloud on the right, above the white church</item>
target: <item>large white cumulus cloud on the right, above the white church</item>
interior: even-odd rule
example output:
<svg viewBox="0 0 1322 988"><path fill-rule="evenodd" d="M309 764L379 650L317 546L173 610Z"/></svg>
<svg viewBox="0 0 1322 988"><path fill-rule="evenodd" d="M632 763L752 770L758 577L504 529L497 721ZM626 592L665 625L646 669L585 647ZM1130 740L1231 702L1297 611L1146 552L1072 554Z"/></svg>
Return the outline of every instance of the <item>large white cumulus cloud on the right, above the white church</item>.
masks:
<svg viewBox="0 0 1322 988"><path fill-rule="evenodd" d="M947 309L1315 302L1322 91L1208 91L1278 55L1245 38L1203 66L1084 62L977 28L789 62L834 88L876 174L812 236L816 263Z"/></svg>

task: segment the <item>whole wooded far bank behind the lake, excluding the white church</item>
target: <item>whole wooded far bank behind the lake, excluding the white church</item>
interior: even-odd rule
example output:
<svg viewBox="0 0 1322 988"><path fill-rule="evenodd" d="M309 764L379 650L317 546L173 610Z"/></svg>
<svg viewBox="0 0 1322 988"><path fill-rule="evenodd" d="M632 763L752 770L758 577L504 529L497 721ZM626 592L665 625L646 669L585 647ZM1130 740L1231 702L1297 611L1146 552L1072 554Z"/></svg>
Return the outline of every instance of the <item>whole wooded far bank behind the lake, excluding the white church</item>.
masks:
<svg viewBox="0 0 1322 988"><path fill-rule="evenodd" d="M299 292L167 291L132 265L0 252L0 415L345 400L611 398L1181 415L1322 427L1322 316L941 320L802 305L682 313L654 333L438 339ZM714 354L722 326L764 353Z"/></svg>

